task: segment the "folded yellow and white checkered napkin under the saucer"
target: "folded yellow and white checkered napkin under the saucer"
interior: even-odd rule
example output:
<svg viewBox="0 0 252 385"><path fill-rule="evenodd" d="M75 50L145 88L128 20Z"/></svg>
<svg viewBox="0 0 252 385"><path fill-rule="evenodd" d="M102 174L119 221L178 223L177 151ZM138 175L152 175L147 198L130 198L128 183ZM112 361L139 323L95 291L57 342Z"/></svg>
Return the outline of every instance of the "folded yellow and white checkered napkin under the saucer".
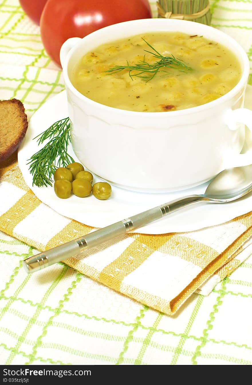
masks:
<svg viewBox="0 0 252 385"><path fill-rule="evenodd" d="M0 230L50 249L94 229L55 213L25 184L17 155L0 169ZM251 253L252 212L191 233L128 234L65 263L154 309L172 315L196 290L207 295Z"/></svg>

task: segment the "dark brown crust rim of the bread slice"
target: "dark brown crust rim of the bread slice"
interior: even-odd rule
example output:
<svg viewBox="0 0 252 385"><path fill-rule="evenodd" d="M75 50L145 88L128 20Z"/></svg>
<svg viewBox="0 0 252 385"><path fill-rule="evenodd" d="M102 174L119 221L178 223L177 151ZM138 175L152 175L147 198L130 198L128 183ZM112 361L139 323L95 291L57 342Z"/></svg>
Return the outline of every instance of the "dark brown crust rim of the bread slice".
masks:
<svg viewBox="0 0 252 385"><path fill-rule="evenodd" d="M25 114L25 109L23 106L23 103L20 102L18 99L10 99L10 100L0 100L0 104L6 104L6 106L13 104L17 108L17 111L20 115L19 119L19 127L18 127L18 135L17 139L13 141L10 144L7 144L5 149L0 151L0 162L7 159L10 155L13 154L18 148L18 146L21 144L23 138L25 137L27 127L28 127L28 121L27 121L27 115ZM1 119L1 117L0 117ZM0 132L1 134L1 132Z"/></svg>

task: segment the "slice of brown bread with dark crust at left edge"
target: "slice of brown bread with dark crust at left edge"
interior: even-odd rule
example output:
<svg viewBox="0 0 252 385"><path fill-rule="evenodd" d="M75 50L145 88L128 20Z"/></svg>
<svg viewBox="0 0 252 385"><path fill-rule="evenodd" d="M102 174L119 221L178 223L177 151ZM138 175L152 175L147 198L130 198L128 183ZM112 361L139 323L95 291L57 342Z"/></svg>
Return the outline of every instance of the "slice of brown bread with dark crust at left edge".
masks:
<svg viewBox="0 0 252 385"><path fill-rule="evenodd" d="M16 151L27 127L23 103L17 99L0 100L0 162Z"/></svg>

